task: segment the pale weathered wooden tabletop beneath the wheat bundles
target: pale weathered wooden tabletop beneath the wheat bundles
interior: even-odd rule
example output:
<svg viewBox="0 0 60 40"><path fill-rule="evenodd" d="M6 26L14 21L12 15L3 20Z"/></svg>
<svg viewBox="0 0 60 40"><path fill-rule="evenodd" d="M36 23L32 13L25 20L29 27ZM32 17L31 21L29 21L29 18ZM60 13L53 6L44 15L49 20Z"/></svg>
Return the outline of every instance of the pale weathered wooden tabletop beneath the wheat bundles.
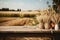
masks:
<svg viewBox="0 0 60 40"><path fill-rule="evenodd" d="M60 30L39 29L36 26L0 26L0 32L27 32L27 33L42 33L42 32L60 32Z"/></svg>

